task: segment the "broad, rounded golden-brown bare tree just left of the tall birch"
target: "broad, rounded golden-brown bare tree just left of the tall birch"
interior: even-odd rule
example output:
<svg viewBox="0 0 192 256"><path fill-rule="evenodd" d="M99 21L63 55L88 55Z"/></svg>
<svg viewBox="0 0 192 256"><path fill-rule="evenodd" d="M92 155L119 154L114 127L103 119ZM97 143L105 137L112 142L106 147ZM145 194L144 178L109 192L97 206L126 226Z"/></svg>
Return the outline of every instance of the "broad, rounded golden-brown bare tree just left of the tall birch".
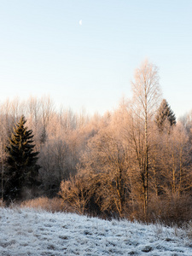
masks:
<svg viewBox="0 0 192 256"><path fill-rule="evenodd" d="M79 175L89 177L90 194L95 196L101 211L117 213L121 218L129 197L129 151L118 133L109 126L90 139Z"/></svg>

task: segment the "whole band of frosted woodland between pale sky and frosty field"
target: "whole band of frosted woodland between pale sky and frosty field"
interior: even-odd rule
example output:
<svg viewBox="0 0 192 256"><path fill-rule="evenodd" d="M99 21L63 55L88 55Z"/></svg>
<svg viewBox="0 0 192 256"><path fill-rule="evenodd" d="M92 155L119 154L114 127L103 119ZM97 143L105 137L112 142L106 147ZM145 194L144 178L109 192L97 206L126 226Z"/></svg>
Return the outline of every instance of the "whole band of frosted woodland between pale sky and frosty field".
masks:
<svg viewBox="0 0 192 256"><path fill-rule="evenodd" d="M137 67L131 91L131 98L103 115L55 108L49 96L2 102L2 203L58 197L67 212L165 224L189 221L192 112L177 119L162 96L158 68L149 61ZM10 153L21 120L36 169L27 160L27 168L15 171ZM22 177L13 177L17 172Z"/></svg>

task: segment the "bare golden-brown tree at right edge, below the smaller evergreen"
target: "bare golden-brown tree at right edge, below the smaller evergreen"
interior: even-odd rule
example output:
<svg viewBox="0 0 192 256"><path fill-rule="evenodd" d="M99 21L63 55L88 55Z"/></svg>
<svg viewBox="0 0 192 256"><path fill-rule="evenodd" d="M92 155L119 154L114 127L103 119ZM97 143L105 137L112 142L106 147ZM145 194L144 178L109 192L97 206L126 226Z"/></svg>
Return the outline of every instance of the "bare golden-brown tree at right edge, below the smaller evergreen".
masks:
<svg viewBox="0 0 192 256"><path fill-rule="evenodd" d="M183 195L191 189L191 144L183 125L178 122L171 134L161 134L160 167L164 183L161 188L169 195Z"/></svg>

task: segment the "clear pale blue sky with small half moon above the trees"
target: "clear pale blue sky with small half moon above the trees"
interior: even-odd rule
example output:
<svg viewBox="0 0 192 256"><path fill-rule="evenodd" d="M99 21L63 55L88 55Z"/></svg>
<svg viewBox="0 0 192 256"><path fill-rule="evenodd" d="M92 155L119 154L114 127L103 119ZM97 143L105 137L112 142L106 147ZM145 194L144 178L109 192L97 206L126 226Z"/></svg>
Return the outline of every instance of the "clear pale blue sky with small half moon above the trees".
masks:
<svg viewBox="0 0 192 256"><path fill-rule="evenodd" d="M179 117L192 109L191 11L191 0L0 0L0 102L113 111L148 58Z"/></svg>

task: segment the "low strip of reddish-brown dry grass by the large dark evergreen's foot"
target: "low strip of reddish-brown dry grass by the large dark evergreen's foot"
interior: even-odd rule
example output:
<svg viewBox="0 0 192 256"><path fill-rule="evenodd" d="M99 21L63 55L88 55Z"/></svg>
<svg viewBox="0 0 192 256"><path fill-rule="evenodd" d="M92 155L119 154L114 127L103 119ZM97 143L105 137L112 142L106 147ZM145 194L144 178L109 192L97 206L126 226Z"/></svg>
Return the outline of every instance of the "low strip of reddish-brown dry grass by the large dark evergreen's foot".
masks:
<svg viewBox="0 0 192 256"><path fill-rule="evenodd" d="M61 212L61 199L58 197L49 199L48 197L38 197L36 199L22 201L20 207L30 207L43 209L48 212Z"/></svg>

